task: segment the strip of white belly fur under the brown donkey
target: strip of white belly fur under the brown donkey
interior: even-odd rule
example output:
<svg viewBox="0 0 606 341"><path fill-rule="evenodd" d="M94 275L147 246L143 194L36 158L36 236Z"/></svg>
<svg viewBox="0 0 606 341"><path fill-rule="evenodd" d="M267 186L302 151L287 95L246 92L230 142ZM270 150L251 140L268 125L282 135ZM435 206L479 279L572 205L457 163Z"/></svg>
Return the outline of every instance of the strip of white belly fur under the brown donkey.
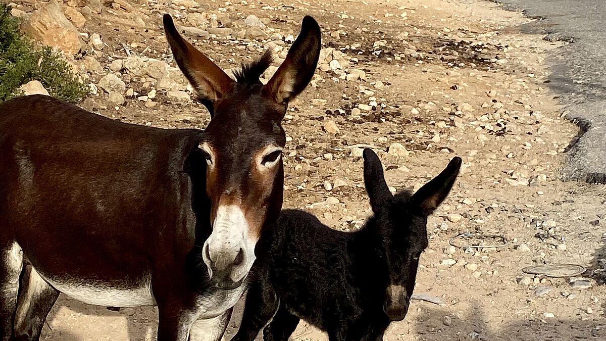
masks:
<svg viewBox="0 0 606 341"><path fill-rule="evenodd" d="M112 288L109 285L90 285L85 283L67 283L67 281L44 278L53 288L65 295L90 305L100 306L144 306L156 305L151 294L151 281L145 279L139 286L132 289Z"/></svg>

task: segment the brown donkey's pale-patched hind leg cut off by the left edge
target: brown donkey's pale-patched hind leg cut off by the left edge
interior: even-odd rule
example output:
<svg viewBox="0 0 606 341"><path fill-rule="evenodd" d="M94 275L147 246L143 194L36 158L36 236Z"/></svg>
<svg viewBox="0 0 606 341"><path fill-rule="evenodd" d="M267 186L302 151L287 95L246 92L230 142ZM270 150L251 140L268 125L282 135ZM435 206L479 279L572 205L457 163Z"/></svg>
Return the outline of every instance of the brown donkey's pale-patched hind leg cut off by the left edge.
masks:
<svg viewBox="0 0 606 341"><path fill-rule="evenodd" d="M23 252L16 242L2 245L0 252L0 333L2 341L12 341Z"/></svg>

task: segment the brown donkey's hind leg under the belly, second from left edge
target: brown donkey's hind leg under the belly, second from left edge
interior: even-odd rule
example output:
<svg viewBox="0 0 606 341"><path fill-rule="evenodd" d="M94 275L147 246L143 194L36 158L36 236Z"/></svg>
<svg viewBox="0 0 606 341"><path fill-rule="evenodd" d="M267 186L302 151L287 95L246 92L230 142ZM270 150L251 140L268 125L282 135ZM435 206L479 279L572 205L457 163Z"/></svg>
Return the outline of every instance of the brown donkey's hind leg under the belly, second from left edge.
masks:
<svg viewBox="0 0 606 341"><path fill-rule="evenodd" d="M15 339L38 341L48 312L58 297L59 291L42 279L32 265L26 263L15 314Z"/></svg>

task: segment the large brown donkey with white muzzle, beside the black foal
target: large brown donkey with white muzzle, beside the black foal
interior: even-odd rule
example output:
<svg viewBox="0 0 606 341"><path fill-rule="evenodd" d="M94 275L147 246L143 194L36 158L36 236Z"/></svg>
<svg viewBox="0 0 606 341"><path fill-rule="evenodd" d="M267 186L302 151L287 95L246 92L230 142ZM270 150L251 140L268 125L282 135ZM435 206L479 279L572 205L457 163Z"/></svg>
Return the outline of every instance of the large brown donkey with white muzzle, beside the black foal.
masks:
<svg viewBox="0 0 606 341"><path fill-rule="evenodd" d="M159 341L218 340L282 206L288 101L309 83L321 33L301 33L263 86L268 53L232 80L164 16L206 130L158 129L48 96L0 104L1 340L38 340L59 292L158 305Z"/></svg>

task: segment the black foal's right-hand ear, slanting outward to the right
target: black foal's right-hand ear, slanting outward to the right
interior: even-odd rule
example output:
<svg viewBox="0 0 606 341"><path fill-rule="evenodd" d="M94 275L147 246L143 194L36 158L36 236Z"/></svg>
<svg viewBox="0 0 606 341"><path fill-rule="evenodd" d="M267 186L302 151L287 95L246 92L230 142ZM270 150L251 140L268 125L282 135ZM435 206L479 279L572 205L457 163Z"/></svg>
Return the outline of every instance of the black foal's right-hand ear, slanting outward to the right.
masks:
<svg viewBox="0 0 606 341"><path fill-rule="evenodd" d="M425 216L433 213L450 192L460 168L461 158L454 157L446 169L413 194L411 203L420 208Z"/></svg>

